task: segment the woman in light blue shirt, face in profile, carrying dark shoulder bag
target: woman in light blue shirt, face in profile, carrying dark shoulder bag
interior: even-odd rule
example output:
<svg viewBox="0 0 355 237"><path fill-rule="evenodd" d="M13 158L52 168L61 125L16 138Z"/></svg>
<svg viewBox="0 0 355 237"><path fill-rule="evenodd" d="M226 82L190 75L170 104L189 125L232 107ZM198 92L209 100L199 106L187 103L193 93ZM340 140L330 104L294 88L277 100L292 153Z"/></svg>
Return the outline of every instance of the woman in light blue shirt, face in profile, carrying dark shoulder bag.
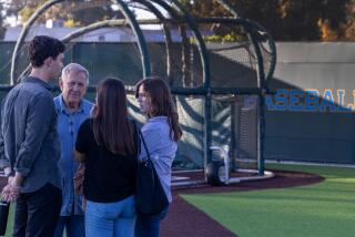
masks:
<svg viewBox="0 0 355 237"><path fill-rule="evenodd" d="M179 115L171 92L162 79L146 78L136 84L135 97L139 101L141 112L148 117L141 132L164 194L171 203L171 166L176 154L178 141L182 136ZM146 158L145 150L141 148L140 159L144 161ZM152 216L138 213L135 236L159 236L160 223L165 217L168 208Z"/></svg>

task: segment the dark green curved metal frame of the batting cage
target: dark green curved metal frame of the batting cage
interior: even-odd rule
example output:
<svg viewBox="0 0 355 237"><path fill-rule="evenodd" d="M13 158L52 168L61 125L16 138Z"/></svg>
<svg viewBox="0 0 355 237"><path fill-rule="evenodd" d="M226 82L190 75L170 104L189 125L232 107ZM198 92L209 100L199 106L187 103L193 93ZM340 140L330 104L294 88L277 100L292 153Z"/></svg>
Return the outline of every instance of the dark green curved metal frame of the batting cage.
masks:
<svg viewBox="0 0 355 237"><path fill-rule="evenodd" d="M21 34L16 43L12 61L11 61L11 85L13 86L17 83L16 75L16 66L18 64L19 58L19 49L22 45L30 28L36 22L36 20L45 12L53 4L63 2L65 0L49 0L43 6L41 6L26 22ZM217 2L224 7L226 11L229 11L233 17L230 18L194 18L191 16L187 10L179 2L179 0L130 0L130 2L124 0L112 0L112 2L119 6L120 11L123 13L125 20L106 20L101 22L95 22L93 24L87 25L72 32L63 39L64 43L68 43L71 39L80 37L87 32L92 30L103 28L103 27L119 27L129 24L133 30L136 39L138 47L141 54L142 69L143 69L143 78L151 75L151 60L150 54L146 47L146 41L140 28L140 24L143 23L161 23L163 25L163 32L165 37L165 50L166 50L166 74L170 85L173 85L171 79L171 51L170 47L172 43L170 35L170 23L186 23L190 30L193 32L195 38L196 47L199 50L202 70L203 70L203 85L200 87L178 87L172 86L172 92L174 94L183 94L183 95L203 95L204 96L204 121L203 121L203 130L204 130L204 167L212 161L212 150L209 148L212 145L212 128L211 128L211 118L212 118L212 95L215 94L256 94L260 97L258 103L258 116L257 116L257 174L264 175L264 110L265 110L265 95L267 93L267 82L272 78L275 64L276 64L276 47L272 37L268 32L258 23L244 19L240 17L237 11L232 7L232 4L227 0L217 0ZM130 3L140 3L149 9L156 19L152 20L136 20L134 18L133 12L130 10ZM171 16L170 19L165 18L156 6L163 8ZM212 87L211 86L211 72L210 72L210 59L205 42L199 31L199 24L202 23L223 23L223 24L234 24L242 25L244 31L247 34L250 42L253 45L253 50L256 54L256 74L257 74L257 87L256 89L243 89L243 87ZM181 35L182 40L184 40L185 35ZM262 43L263 41L267 41L270 48L270 66L268 71L265 72L264 69L264 58L262 54ZM29 68L27 69L29 70ZM26 70L26 71L27 71ZM26 72L24 71L24 72ZM24 73L23 72L23 73ZM22 74L23 74L22 73ZM21 74L21 75L22 75ZM8 86L8 89L11 86ZM2 89L4 89L2 86Z"/></svg>

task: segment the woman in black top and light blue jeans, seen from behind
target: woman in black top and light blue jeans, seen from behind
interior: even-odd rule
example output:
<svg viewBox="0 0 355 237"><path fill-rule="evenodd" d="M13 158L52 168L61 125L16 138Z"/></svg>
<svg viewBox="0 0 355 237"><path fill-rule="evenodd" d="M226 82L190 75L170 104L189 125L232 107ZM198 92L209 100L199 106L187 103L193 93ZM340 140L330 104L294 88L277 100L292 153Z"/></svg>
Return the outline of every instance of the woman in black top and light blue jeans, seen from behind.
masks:
<svg viewBox="0 0 355 237"><path fill-rule="evenodd" d="M126 95L118 79L98 85L92 118L79 128L75 157L85 162L85 234L133 236L135 224L135 128L128 118Z"/></svg>

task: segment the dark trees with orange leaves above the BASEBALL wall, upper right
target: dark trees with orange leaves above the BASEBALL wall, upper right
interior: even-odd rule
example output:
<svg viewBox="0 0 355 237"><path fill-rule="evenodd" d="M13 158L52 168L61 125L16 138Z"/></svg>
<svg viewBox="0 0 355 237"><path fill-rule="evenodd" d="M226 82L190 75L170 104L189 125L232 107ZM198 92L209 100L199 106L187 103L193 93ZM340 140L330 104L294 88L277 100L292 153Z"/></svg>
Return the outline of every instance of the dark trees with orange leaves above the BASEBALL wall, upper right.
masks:
<svg viewBox="0 0 355 237"><path fill-rule="evenodd" d="M232 17L216 0L183 0L195 17ZM355 0L230 0L241 17L264 25L276 41L355 40ZM226 35L225 25L215 34Z"/></svg>

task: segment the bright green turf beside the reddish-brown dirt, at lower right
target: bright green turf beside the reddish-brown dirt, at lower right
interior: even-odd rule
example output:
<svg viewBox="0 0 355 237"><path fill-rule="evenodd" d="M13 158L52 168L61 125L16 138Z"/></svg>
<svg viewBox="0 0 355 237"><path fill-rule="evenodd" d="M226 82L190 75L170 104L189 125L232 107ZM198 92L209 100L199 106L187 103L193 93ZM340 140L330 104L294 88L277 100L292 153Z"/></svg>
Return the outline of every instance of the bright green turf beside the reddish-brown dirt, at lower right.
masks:
<svg viewBox="0 0 355 237"><path fill-rule="evenodd" d="M355 236L355 168L267 167L308 172L326 179L293 188L183 195L183 198L240 237Z"/></svg>

